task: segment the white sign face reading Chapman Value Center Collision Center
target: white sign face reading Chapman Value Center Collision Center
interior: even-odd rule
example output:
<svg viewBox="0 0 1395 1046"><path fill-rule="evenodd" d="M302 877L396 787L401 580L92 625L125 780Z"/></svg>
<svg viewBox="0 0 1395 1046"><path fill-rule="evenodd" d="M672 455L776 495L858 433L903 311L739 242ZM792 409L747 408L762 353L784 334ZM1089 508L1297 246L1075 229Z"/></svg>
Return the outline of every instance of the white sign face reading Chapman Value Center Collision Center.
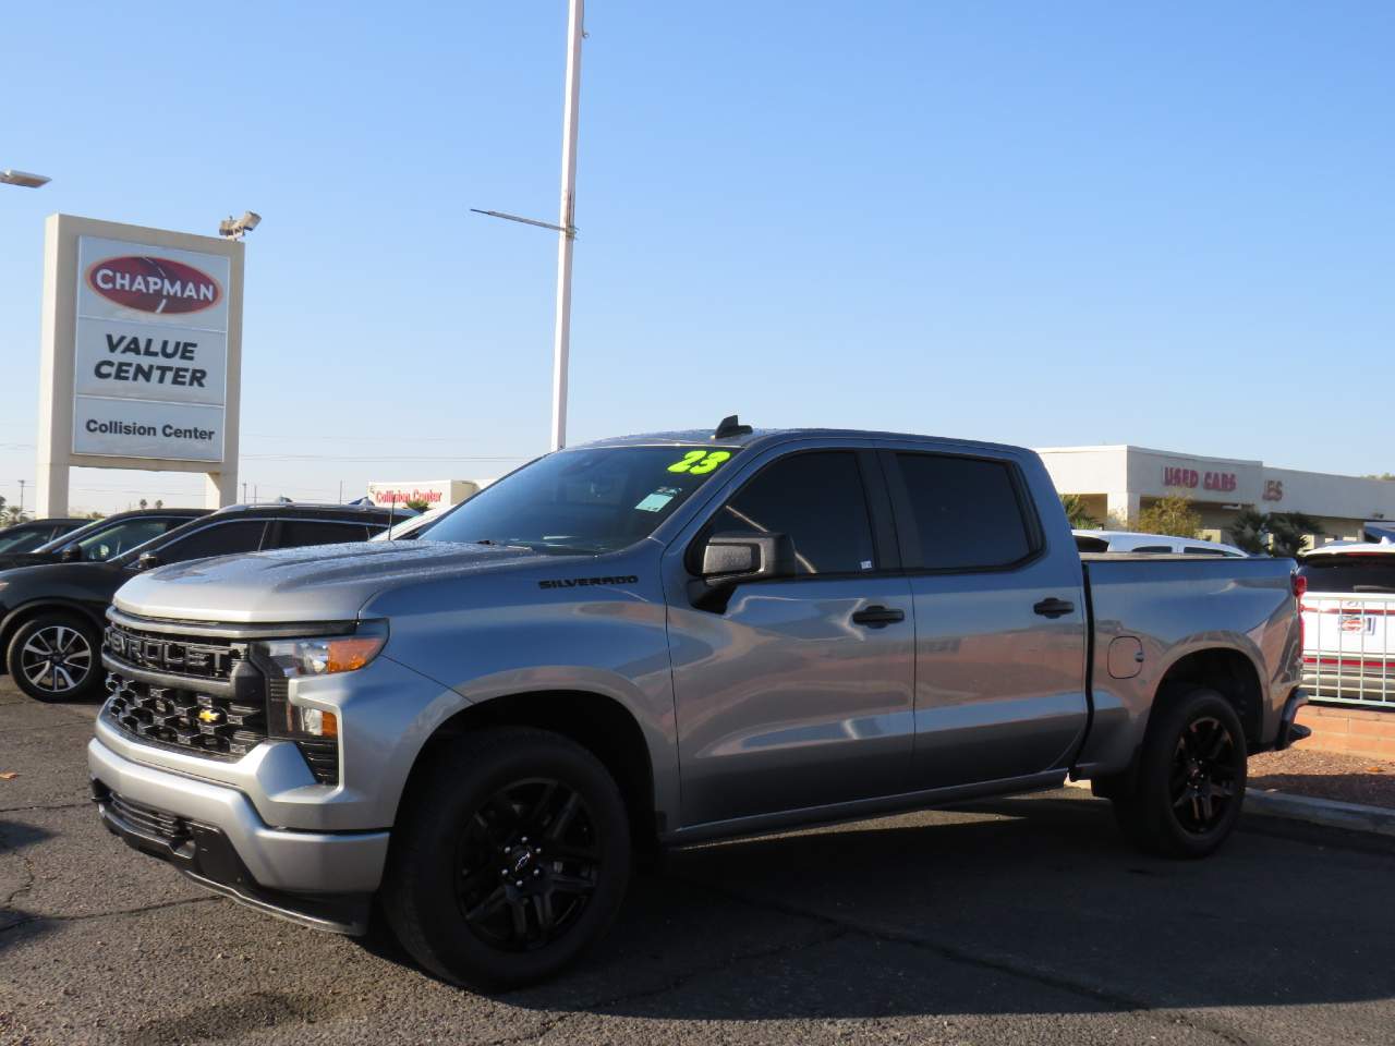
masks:
<svg viewBox="0 0 1395 1046"><path fill-rule="evenodd" d="M230 259L78 237L73 452L223 460Z"/></svg>

